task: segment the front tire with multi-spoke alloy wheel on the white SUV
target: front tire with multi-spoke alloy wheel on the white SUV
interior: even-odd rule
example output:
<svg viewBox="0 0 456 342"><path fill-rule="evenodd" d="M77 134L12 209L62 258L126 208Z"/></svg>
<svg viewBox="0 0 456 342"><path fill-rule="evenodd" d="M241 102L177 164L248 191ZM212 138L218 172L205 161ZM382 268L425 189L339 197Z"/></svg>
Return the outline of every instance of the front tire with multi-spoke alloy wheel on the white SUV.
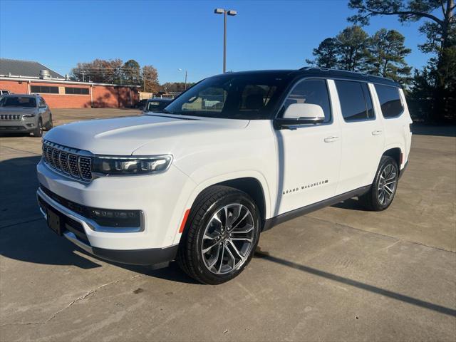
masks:
<svg viewBox="0 0 456 342"><path fill-rule="evenodd" d="M249 195L232 187L209 187L192 205L177 263L200 283L222 284L249 264L259 233L259 209Z"/></svg>

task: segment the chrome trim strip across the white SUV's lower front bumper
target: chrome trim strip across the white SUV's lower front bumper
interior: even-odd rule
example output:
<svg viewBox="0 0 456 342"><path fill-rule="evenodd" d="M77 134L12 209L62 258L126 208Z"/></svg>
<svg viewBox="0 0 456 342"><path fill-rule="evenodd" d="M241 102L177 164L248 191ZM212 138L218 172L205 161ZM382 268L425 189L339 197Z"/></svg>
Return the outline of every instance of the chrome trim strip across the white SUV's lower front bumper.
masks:
<svg viewBox="0 0 456 342"><path fill-rule="evenodd" d="M83 217L80 214L73 212L72 210L63 207L62 204L56 202L54 199L51 197L48 197L43 190L41 190L38 187L38 190L36 190L36 196L41 197L43 201L51 205L51 207L54 207L57 209L59 212L62 214L70 217L71 219L74 219L76 222L79 222L82 224L84 229L90 228L94 232L103 232L103 233L137 233L137 232L143 232L145 228L145 219L144 219L144 212L140 210L140 227L103 227L100 226L98 223L93 221L92 219L88 219L87 217ZM38 200L38 198L37 198ZM43 216L46 218L46 214L43 212L43 209L41 209L41 206L39 205L38 202L38 207L40 208L41 213Z"/></svg>

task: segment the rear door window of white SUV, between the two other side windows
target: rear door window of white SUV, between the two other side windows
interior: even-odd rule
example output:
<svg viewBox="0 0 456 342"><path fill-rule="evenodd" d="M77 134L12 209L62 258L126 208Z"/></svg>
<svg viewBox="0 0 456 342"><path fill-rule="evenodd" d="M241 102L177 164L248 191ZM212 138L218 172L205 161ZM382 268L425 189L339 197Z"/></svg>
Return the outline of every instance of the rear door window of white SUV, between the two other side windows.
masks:
<svg viewBox="0 0 456 342"><path fill-rule="evenodd" d="M371 94L366 83L335 81L343 119L346 122L375 118Z"/></svg>

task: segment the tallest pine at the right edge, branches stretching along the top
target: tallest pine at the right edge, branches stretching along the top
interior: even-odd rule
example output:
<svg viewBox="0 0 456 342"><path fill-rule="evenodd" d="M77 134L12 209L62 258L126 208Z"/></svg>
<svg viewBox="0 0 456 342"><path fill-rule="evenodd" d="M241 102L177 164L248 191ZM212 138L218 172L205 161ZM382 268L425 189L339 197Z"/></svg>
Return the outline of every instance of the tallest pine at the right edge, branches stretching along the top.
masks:
<svg viewBox="0 0 456 342"><path fill-rule="evenodd" d="M425 20L420 26L420 33L426 36L425 43L419 48L425 53L434 53L427 64L427 73L434 78L427 83L434 83L432 89L432 111L435 121L446 118L455 119L454 56L456 45L455 0L350 0L348 6L358 13L348 20L366 25L371 16L398 16L401 22Z"/></svg>

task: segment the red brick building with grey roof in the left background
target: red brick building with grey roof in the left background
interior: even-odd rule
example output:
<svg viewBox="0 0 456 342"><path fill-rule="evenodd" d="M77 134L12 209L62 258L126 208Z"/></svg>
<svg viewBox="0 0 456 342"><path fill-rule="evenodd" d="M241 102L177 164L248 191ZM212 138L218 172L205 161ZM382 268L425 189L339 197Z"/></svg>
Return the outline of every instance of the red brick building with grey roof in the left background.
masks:
<svg viewBox="0 0 456 342"><path fill-rule="evenodd" d="M68 81L37 62L0 59L0 89L38 93L51 108L130 108L138 86Z"/></svg>

